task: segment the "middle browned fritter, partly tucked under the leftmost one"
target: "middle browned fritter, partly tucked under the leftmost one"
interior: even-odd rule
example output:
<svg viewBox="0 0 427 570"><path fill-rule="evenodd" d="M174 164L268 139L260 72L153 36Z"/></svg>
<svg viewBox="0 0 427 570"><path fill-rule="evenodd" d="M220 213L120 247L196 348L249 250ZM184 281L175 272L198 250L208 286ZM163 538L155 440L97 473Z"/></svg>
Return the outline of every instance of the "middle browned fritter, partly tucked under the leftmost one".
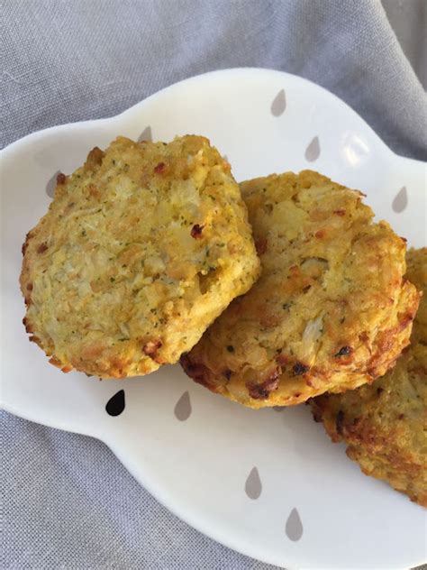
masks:
<svg viewBox="0 0 427 570"><path fill-rule="evenodd" d="M419 295L405 244L358 191L316 172L241 184L262 274L181 360L251 408L298 404L384 374L409 342Z"/></svg>

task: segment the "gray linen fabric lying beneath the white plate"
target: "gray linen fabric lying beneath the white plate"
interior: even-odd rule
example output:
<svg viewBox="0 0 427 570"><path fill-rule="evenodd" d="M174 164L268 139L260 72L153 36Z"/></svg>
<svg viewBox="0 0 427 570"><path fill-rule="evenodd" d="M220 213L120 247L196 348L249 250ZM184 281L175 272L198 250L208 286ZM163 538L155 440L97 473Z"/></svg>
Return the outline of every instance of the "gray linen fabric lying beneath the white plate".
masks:
<svg viewBox="0 0 427 570"><path fill-rule="evenodd" d="M419 62L426 11L413 5L419 14L407 49ZM329 88L395 152L427 158L426 96L379 1L7 0L1 7L2 146L50 125L116 115L182 78L255 66ZM3 412L2 451L2 569L271 567L168 513L94 439Z"/></svg>

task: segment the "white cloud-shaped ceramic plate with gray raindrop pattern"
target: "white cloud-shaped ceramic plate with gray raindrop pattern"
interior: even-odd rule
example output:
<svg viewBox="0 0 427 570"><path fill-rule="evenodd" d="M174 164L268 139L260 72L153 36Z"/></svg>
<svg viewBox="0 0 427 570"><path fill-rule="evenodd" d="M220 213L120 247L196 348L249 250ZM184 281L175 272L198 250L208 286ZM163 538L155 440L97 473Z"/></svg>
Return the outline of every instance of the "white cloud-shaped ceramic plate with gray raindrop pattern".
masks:
<svg viewBox="0 0 427 570"><path fill-rule="evenodd" d="M63 374L28 342L21 245L49 206L52 177L117 134L169 141L185 133L208 136L238 180L320 170L365 191L377 216L409 244L425 241L425 165L396 156L340 99L286 73L209 73L122 115L33 133L1 156L5 409L102 439L168 509L246 555L288 568L422 564L425 511L361 474L307 407L244 409L191 382L179 366L125 382ZM108 409L120 412L123 396L125 408L112 416L105 405L117 392Z"/></svg>

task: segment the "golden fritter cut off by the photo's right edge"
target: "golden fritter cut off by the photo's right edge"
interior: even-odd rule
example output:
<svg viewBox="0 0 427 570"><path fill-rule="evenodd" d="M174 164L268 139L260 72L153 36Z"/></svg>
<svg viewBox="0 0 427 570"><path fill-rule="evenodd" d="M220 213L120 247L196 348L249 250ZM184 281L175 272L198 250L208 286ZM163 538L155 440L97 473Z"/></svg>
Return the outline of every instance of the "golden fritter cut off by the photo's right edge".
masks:
<svg viewBox="0 0 427 570"><path fill-rule="evenodd" d="M427 507L427 248L407 254L407 277L422 290L411 345L368 386L313 400L313 415L363 473L385 479Z"/></svg>

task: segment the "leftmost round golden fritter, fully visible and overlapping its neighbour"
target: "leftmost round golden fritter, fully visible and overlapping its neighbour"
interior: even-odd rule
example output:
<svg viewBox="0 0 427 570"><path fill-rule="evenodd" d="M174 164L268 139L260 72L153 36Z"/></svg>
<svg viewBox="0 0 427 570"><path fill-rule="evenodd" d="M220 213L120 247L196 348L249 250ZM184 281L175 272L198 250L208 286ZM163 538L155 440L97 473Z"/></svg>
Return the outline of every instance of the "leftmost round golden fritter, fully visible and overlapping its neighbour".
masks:
<svg viewBox="0 0 427 570"><path fill-rule="evenodd" d="M32 340L103 378L177 362L259 274L230 165L199 136L95 148L23 253Z"/></svg>

